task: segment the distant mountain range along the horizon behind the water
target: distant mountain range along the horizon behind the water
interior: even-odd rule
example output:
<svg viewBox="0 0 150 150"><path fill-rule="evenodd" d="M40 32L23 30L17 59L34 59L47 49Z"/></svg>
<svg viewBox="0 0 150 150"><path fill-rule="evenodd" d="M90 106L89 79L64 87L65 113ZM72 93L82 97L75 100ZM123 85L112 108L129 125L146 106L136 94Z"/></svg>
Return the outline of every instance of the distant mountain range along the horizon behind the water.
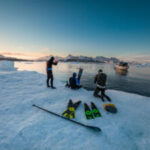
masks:
<svg viewBox="0 0 150 150"><path fill-rule="evenodd" d="M38 58L37 61L46 61L48 60L52 55L45 56ZM63 62L98 62L98 63L118 63L120 62L119 59L115 57L103 57L103 56L97 56L97 57L87 57L87 56L73 56L68 55L67 57L58 57L54 56L56 60L63 61Z"/></svg>

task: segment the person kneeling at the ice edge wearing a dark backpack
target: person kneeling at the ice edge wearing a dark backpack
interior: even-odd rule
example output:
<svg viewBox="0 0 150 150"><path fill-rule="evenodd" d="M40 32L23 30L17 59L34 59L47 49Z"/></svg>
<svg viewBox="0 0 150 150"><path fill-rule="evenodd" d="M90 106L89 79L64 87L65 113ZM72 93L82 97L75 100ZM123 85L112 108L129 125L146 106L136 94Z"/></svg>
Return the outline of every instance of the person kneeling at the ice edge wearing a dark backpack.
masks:
<svg viewBox="0 0 150 150"><path fill-rule="evenodd" d="M104 101L104 97L106 97L108 101L111 101L110 98L105 94L106 80L107 80L107 75L103 73L102 69L100 69L94 79L94 83L96 83L94 96L100 97L102 101ZM98 95L100 91L101 91L101 95Z"/></svg>

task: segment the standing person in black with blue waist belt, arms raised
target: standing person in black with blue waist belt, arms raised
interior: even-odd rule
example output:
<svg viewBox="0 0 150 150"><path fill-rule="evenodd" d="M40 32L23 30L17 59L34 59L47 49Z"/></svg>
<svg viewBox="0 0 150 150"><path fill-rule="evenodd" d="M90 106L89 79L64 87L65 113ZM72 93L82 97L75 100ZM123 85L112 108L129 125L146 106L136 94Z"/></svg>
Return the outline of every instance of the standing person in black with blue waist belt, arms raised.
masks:
<svg viewBox="0 0 150 150"><path fill-rule="evenodd" d="M51 80L51 88L53 89L56 89L54 86L53 86L53 70L52 70L52 66L53 65L57 65L58 64L58 61L54 61L55 58L54 57L51 57L47 62L46 62L46 72L47 72L47 87L50 87L49 86L49 80Z"/></svg>

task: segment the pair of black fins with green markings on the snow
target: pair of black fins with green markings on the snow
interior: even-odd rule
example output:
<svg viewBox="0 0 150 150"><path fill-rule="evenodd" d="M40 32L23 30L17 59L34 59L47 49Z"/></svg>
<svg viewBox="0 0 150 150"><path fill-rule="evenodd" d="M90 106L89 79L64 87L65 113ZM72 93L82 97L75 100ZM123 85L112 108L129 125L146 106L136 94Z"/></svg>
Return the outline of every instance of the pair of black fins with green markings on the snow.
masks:
<svg viewBox="0 0 150 150"><path fill-rule="evenodd" d="M101 113L99 112L99 110L97 109L96 105L91 102L91 108L88 106L88 104L84 103L84 111L85 111L85 116L86 119L94 119L96 117L101 117Z"/></svg>

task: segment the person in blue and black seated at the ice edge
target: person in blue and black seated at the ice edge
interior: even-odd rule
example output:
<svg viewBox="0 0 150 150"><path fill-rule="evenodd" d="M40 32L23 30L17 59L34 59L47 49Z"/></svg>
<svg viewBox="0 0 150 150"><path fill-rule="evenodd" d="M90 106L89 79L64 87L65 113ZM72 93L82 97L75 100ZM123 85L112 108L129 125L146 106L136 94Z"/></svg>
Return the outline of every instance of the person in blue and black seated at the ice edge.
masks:
<svg viewBox="0 0 150 150"><path fill-rule="evenodd" d="M71 89L81 88L80 81L76 76L77 74L74 72L73 76L69 79L69 85L67 84L66 86L70 87Z"/></svg>

